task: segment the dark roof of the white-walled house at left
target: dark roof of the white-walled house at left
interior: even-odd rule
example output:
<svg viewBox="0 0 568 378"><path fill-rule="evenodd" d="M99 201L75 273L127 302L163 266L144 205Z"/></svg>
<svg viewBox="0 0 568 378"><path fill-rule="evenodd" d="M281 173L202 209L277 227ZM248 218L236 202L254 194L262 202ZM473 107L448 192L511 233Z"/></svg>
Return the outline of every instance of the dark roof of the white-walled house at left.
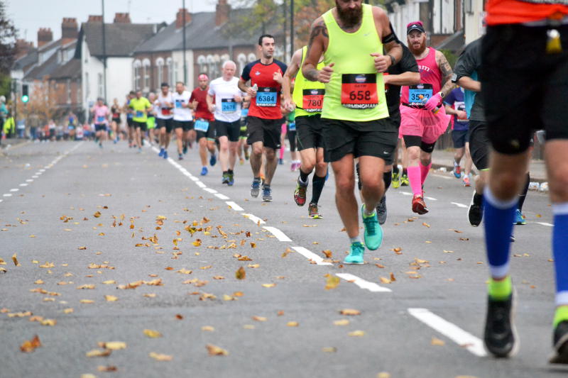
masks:
<svg viewBox="0 0 568 378"><path fill-rule="evenodd" d="M105 23L105 47L107 57L131 56L136 46L154 35L153 23ZM79 40L84 39L89 45L89 52L94 56L102 56L102 23L83 23ZM80 45L75 57L80 57Z"/></svg>

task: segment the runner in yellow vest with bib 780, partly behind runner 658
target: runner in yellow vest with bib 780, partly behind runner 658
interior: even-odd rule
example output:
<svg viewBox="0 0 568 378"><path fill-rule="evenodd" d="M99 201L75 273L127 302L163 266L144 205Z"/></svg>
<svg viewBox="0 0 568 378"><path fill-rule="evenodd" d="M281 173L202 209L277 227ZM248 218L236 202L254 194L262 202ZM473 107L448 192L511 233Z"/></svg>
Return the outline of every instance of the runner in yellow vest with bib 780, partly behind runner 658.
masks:
<svg viewBox="0 0 568 378"><path fill-rule="evenodd" d="M294 201L297 206L306 203L308 176L312 177L312 199L307 206L310 218L322 218L317 206L324 189L327 176L327 162L324 161L324 143L322 135L322 105L325 94L325 84L310 82L302 74L302 67L307 54L307 46L294 52L288 70L284 74L283 96L285 107L295 110L295 126L298 149L300 150L300 175L297 178L294 191ZM323 57L317 63L317 70L324 67ZM292 87L294 80L294 88Z"/></svg>

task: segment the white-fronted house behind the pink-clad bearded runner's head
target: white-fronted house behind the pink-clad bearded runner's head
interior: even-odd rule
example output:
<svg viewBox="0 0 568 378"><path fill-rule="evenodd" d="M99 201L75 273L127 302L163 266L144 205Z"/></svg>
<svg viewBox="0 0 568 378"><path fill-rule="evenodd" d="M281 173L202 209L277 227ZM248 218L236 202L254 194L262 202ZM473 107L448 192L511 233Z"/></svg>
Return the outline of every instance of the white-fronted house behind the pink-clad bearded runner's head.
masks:
<svg viewBox="0 0 568 378"><path fill-rule="evenodd" d="M465 0L476 1L476 0ZM481 0L482 1L482 0ZM406 43L406 26L420 20L429 45L459 52L465 43L462 0L386 0L388 18L398 38Z"/></svg>

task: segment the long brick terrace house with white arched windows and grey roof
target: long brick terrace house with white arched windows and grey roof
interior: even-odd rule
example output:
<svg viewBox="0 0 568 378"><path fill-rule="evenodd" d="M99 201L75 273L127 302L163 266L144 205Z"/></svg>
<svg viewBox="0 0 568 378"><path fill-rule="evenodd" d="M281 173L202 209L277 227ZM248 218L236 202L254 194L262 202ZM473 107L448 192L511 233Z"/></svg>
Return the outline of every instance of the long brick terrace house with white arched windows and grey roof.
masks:
<svg viewBox="0 0 568 378"><path fill-rule="evenodd" d="M237 75L248 62L258 59L256 38L231 35L226 23L249 9L231 9L226 0L219 0L214 12L189 13L180 9L175 21L160 30L134 51L132 86L143 91L157 91L160 83L186 81L188 89L197 86L201 72L210 79L221 76L226 60L236 62ZM185 13L185 75L183 25ZM281 58L278 49L275 57Z"/></svg>

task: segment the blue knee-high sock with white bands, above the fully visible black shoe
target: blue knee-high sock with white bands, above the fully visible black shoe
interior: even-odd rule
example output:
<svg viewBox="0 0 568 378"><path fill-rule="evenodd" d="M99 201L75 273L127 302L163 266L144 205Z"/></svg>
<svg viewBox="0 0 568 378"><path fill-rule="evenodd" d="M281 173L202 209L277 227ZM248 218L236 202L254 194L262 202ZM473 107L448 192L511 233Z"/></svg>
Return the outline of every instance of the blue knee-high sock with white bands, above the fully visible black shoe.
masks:
<svg viewBox="0 0 568 378"><path fill-rule="evenodd" d="M510 235L518 197L509 201L496 199L489 187L484 191L484 228L487 260L491 277L506 277L509 272Z"/></svg>

